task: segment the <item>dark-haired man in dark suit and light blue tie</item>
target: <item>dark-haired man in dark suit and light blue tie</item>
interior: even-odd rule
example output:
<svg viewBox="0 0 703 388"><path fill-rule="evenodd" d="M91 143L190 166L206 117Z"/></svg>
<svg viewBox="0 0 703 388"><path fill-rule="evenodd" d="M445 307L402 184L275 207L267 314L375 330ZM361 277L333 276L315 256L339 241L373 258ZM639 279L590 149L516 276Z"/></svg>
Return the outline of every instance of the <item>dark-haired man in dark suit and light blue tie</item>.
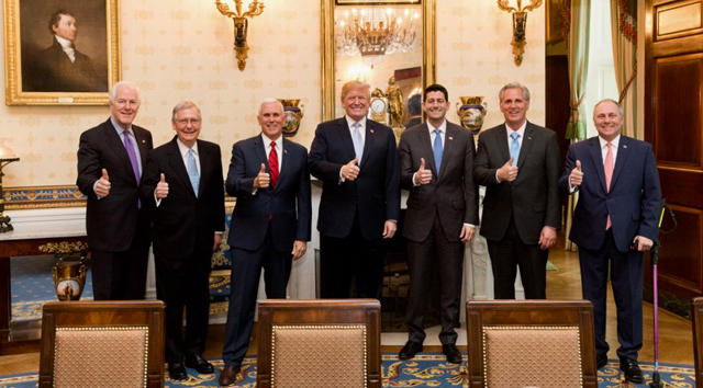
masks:
<svg viewBox="0 0 703 388"><path fill-rule="evenodd" d="M400 137L401 187L410 191L403 236L408 239L410 301L409 340L400 360L421 352L423 320L435 266L442 282L442 351L447 361L461 363L456 346L461 298L464 243L473 238L479 222L478 186L473 184L473 136L445 119L449 95L439 84L425 89L427 122Z"/></svg>

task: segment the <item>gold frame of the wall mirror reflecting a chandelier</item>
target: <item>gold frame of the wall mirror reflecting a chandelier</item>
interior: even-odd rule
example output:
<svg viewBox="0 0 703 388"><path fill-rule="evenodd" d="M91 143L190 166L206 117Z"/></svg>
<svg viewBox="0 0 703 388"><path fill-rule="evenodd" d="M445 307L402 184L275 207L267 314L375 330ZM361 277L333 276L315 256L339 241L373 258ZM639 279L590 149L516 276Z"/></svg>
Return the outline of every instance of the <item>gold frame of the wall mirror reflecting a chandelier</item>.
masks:
<svg viewBox="0 0 703 388"><path fill-rule="evenodd" d="M349 8L354 5L370 5L370 7L383 7L394 8L399 5L415 7L421 15L422 32L420 32L422 47L420 47L421 57L419 64L411 64L405 67L399 67L399 71L412 71L414 66L420 69L421 83L419 84L421 90L425 87L433 84L436 79L436 1L437 0L321 0L321 71L322 71L322 117L324 121L335 118L337 114L337 107L339 107L338 90L341 89L344 80L335 77L338 72L337 58L338 53L335 48L335 11L337 8ZM421 66L420 66L421 65ZM383 89L386 89L386 82L391 73L382 77ZM371 89L380 84L381 82L369 82Z"/></svg>

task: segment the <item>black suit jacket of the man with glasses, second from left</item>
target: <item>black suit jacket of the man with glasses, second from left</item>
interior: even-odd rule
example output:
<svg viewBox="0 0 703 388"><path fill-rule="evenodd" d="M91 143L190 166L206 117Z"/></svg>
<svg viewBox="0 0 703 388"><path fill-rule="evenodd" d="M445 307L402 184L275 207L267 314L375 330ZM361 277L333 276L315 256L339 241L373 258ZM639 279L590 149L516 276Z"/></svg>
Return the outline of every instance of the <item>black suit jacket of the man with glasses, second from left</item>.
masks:
<svg viewBox="0 0 703 388"><path fill-rule="evenodd" d="M142 204L153 208L154 254L185 259L212 249L214 232L224 231L224 185L220 146L198 140L200 185L196 196L176 139L149 152L142 174ZM161 173L168 196L156 207L154 190Z"/></svg>

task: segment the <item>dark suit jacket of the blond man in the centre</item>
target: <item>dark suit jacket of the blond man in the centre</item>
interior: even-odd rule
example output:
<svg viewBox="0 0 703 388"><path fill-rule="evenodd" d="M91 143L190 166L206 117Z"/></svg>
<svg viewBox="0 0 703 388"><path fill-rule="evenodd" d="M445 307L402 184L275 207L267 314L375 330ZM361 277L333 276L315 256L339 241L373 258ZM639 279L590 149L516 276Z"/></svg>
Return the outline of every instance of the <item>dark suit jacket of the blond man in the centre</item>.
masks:
<svg viewBox="0 0 703 388"><path fill-rule="evenodd" d="M383 236L383 225L400 215L400 168L393 130L366 121L364 156L359 176L339 183L342 167L356 157L345 117L321 123L310 147L310 173L323 182L317 230L344 238L349 235L358 209L366 239Z"/></svg>

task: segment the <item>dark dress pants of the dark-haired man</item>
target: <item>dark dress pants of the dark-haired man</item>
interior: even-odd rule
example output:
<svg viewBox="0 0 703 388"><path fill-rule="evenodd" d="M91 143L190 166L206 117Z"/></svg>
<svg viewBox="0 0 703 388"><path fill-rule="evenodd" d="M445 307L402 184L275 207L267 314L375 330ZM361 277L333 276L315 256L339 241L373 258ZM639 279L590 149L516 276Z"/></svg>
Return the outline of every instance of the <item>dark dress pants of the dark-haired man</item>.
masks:
<svg viewBox="0 0 703 388"><path fill-rule="evenodd" d="M410 301L408 305L408 339L422 343L425 340L423 320L427 307L427 298L432 285L433 269L438 266L440 281L442 344L456 344L459 326L459 307L461 299L461 270L464 267L464 243L456 236L449 241L439 215L425 241L408 241L410 265Z"/></svg>

